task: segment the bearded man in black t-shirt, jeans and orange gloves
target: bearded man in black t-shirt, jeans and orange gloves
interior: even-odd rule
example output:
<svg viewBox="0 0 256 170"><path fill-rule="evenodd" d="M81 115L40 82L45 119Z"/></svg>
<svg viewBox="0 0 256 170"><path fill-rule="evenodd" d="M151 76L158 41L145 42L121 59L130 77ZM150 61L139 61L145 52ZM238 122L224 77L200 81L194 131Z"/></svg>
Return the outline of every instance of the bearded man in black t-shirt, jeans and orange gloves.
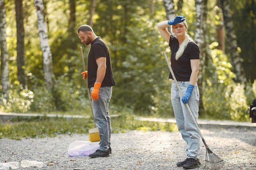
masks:
<svg viewBox="0 0 256 170"><path fill-rule="evenodd" d="M88 53L88 71L84 71L83 78L88 78L88 88L92 95L94 122L99 128L99 149L89 157L108 157L111 153L111 121L108 105L112 96L112 86L115 81L112 74L110 53L106 43L94 34L88 25L81 25L77 30L81 42L90 46Z"/></svg>

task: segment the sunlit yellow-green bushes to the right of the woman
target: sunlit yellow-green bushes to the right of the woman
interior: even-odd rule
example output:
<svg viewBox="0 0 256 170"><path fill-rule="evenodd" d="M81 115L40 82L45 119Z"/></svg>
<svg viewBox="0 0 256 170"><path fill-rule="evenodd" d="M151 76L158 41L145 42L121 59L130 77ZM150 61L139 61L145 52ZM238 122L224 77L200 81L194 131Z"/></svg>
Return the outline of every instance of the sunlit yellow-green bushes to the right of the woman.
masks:
<svg viewBox="0 0 256 170"><path fill-rule="evenodd" d="M213 43L210 48L217 45ZM248 106L256 96L256 80L246 86L236 83L227 56L218 49L211 50L211 55L218 78L209 77L204 84L203 105L207 113L204 117L249 121Z"/></svg>

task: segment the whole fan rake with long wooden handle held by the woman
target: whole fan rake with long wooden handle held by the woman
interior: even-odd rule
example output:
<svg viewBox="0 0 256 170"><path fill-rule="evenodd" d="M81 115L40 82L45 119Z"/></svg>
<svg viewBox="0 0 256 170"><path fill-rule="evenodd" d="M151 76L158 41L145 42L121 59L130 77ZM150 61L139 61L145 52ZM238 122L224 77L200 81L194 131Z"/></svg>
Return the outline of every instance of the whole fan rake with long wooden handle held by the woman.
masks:
<svg viewBox="0 0 256 170"><path fill-rule="evenodd" d="M183 96L182 91L181 91L181 89L180 89L180 86L179 86L178 83L177 83L177 80L176 80L176 78L175 78L175 75L174 75L174 73L173 73L173 70L172 70L172 68L171 68L171 65L170 65L170 63L169 63L169 61L168 61L168 58L167 58L167 56L166 56L166 53L165 53L165 52L163 52L163 53L164 53L164 57L165 57L165 59L166 59L166 62L167 62L167 64L168 64L168 67L169 67L169 69L170 69L170 71L171 71L171 75L173 76L173 79L174 79L174 81L175 81L175 84L177 85L177 88L179 89L180 94ZM208 145L206 144L206 142L205 142L205 140L204 140L204 138L203 138L203 136L202 136L202 133L201 133L199 127L198 127L198 124L197 124L197 122L195 121L195 118L194 118L194 116L193 116L193 114L192 114L192 112L191 112L191 110L190 110L190 108L189 108L189 105L188 105L187 103L186 103L185 105L186 105L186 108L189 110L189 113L190 113L190 115L191 115L191 117L192 117L192 120L193 120L193 122L194 122L194 124L195 124L195 127L197 128L198 133L199 133L200 137L202 138L202 141L203 141L204 146L205 146L205 148L206 148L204 170L218 170L219 168L221 168L222 166L224 166L225 161L223 161L222 159L220 159L220 157L218 157L215 153L213 153L213 152L209 149L209 147L208 147Z"/></svg>

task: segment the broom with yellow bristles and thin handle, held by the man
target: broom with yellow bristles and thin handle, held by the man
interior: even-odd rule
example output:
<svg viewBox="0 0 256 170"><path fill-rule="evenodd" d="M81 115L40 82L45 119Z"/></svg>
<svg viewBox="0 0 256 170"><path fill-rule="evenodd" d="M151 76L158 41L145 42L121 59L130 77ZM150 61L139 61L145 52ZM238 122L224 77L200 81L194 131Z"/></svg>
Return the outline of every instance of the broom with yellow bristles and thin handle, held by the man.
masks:
<svg viewBox="0 0 256 170"><path fill-rule="evenodd" d="M83 71L85 71L85 63L84 63L84 59L83 59L83 49L82 49L82 47L80 47L80 52L81 52L81 57L82 57L82 62L83 62ZM88 89L88 80L86 79L85 82L86 82L86 89L87 89L88 99L89 99L91 110L92 110L92 117L93 117L93 120L94 120L94 114L93 114L93 108L92 108L92 99L91 99L90 92L89 92L89 89ZM94 123L94 125L95 125L95 123ZM89 141L91 141L91 142L101 141L101 139L99 137L99 129L97 128L96 125L95 125L95 128L89 130Z"/></svg>

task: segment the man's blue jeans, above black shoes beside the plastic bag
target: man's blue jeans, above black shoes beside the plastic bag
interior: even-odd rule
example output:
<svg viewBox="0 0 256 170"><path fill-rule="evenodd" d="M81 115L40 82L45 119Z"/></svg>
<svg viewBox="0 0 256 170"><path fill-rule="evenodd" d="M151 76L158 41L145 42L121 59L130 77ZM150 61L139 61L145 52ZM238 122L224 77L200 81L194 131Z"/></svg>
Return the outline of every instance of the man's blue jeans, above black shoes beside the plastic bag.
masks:
<svg viewBox="0 0 256 170"><path fill-rule="evenodd" d="M92 93L90 88L90 93ZM111 137L111 121L108 112L108 105L112 96L112 87L99 88L99 99L92 100L94 123L99 128L99 150L108 151Z"/></svg>

